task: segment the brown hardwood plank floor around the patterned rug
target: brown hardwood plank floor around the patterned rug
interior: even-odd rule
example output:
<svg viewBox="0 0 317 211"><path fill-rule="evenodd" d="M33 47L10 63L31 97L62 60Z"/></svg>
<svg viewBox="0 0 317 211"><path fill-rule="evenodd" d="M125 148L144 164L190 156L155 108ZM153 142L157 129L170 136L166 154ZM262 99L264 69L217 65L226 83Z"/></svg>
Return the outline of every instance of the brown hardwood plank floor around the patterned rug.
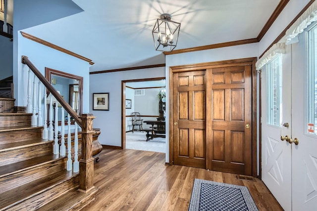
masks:
<svg viewBox="0 0 317 211"><path fill-rule="evenodd" d="M95 163L100 190L85 211L187 211L195 178L245 185L260 211L282 211L264 183L238 180L237 174L165 166L165 154L104 149Z"/></svg>

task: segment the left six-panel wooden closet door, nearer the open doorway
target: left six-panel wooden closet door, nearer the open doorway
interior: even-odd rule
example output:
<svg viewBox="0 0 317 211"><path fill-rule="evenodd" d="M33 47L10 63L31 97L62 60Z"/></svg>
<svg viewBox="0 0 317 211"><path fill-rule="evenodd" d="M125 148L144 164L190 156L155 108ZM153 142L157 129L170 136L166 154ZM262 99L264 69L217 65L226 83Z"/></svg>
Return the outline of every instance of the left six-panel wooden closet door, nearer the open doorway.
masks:
<svg viewBox="0 0 317 211"><path fill-rule="evenodd" d="M205 71L175 73L173 84L173 162L205 169Z"/></svg>

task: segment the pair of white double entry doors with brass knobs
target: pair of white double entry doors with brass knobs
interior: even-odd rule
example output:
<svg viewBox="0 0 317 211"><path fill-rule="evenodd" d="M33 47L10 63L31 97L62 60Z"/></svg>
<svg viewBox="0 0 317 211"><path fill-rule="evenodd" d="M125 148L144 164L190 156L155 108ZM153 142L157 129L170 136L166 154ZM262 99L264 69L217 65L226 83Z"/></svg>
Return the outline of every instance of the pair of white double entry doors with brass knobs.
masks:
<svg viewBox="0 0 317 211"><path fill-rule="evenodd" d="M287 45L281 80L276 64L263 71L262 179L285 211L317 211L317 26L312 30Z"/></svg>

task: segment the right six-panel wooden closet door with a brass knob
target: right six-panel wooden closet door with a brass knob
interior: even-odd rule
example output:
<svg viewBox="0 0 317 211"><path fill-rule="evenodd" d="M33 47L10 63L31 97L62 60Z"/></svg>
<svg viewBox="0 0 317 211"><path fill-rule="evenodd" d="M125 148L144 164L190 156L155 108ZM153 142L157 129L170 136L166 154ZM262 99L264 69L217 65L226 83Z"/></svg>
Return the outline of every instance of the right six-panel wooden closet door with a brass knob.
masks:
<svg viewBox="0 0 317 211"><path fill-rule="evenodd" d="M208 72L207 169L252 174L251 65ZM209 139L208 139L209 140Z"/></svg>

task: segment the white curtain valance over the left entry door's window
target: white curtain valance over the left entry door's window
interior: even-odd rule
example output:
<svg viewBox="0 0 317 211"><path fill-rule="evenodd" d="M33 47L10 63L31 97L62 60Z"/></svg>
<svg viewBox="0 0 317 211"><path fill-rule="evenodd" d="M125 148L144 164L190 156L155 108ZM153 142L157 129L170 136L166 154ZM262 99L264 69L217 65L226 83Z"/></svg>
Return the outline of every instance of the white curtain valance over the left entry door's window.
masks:
<svg viewBox="0 0 317 211"><path fill-rule="evenodd" d="M264 65L269 63L278 53L286 53L285 42L278 42L272 45L263 56L257 61L257 70L260 70Z"/></svg>

